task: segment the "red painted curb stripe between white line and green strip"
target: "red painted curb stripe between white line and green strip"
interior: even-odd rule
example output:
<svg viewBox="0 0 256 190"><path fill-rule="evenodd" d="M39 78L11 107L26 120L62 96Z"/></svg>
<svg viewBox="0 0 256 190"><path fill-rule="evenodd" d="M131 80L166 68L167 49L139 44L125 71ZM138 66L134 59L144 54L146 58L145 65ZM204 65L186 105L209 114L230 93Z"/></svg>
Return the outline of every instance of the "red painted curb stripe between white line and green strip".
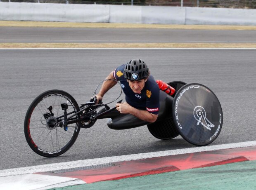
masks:
<svg viewBox="0 0 256 190"><path fill-rule="evenodd" d="M187 170L201 167L230 164L256 160L256 146L245 148L231 148L206 152L194 152L182 155L170 155L141 160L112 163L104 168L84 169L80 171L67 171L55 174L52 171L42 172L47 176L62 176L79 178L86 183L109 181L165 172Z"/></svg>

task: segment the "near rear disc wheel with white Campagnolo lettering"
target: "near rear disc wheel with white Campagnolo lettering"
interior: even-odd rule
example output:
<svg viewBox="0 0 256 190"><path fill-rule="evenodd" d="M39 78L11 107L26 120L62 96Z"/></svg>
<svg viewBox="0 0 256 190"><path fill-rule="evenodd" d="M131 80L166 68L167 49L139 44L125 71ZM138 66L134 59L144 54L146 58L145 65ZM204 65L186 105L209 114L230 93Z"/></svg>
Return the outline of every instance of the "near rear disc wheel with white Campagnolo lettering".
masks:
<svg viewBox="0 0 256 190"><path fill-rule="evenodd" d="M180 135L193 145L208 145L220 134L223 112L208 87L192 83L180 88L173 99L173 118Z"/></svg>

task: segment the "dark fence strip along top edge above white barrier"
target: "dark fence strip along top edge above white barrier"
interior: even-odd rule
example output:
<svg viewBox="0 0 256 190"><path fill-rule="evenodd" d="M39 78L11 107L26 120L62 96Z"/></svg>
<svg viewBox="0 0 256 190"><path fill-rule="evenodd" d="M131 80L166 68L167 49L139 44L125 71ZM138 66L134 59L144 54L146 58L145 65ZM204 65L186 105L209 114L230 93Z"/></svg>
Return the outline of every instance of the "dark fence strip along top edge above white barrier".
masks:
<svg viewBox="0 0 256 190"><path fill-rule="evenodd" d="M66 4L150 5L181 7L220 7L256 9L256 0L0 0L1 2L36 2Z"/></svg>

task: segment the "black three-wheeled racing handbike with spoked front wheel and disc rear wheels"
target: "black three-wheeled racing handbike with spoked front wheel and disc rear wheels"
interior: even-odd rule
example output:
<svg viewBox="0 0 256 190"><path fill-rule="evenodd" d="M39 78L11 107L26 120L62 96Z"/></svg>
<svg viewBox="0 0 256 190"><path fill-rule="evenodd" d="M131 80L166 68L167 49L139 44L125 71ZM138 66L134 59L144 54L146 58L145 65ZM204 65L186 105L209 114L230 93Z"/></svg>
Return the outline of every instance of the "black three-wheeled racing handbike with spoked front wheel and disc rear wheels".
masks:
<svg viewBox="0 0 256 190"><path fill-rule="evenodd" d="M212 143L220 134L223 124L222 108L216 95L198 83L174 81L168 84L175 88L176 94L169 96L160 90L159 115L154 123L131 114L121 114L116 107L110 109L109 103L96 104L95 97L78 106L76 100L65 91L45 91L31 103L26 113L26 141L38 155L56 157L71 148L81 128L90 128L97 120L110 118L107 125L111 129L147 125L149 132L162 140L180 134L194 145Z"/></svg>

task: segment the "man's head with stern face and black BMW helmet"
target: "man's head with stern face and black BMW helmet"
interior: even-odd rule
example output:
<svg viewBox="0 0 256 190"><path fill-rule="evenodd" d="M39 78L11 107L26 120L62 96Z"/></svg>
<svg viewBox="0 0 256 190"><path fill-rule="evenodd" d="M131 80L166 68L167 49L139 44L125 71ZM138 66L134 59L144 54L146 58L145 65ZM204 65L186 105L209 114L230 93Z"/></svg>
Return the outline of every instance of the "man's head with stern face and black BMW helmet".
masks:
<svg viewBox="0 0 256 190"><path fill-rule="evenodd" d="M124 77L134 93L140 93L149 77L149 68L141 59L132 59L124 68Z"/></svg>

